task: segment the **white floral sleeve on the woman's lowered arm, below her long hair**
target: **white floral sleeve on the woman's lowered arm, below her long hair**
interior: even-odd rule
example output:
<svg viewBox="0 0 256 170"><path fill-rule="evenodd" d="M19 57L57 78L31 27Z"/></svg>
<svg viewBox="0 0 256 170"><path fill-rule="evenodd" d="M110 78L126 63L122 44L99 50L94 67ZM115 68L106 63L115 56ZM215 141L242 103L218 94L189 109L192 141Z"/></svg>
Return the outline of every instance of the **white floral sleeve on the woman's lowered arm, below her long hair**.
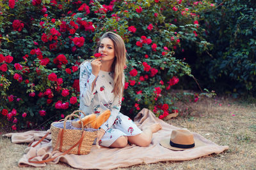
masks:
<svg viewBox="0 0 256 170"><path fill-rule="evenodd" d="M123 77L123 85L124 85L124 77ZM114 124L116 117L120 111L121 105L122 105L122 96L115 97L113 103L109 107L111 115L109 116L108 120L100 126L100 128L104 129L104 131L108 131L108 129Z"/></svg>

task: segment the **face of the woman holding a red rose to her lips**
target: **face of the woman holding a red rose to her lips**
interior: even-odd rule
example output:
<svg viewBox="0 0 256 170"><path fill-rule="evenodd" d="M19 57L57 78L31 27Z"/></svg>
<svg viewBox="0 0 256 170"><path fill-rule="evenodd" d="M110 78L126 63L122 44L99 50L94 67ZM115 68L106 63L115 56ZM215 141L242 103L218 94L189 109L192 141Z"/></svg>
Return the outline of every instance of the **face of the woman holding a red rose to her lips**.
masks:
<svg viewBox="0 0 256 170"><path fill-rule="evenodd" d="M108 61L115 59L114 43L109 38L103 38L100 42L99 53L101 53L101 60Z"/></svg>

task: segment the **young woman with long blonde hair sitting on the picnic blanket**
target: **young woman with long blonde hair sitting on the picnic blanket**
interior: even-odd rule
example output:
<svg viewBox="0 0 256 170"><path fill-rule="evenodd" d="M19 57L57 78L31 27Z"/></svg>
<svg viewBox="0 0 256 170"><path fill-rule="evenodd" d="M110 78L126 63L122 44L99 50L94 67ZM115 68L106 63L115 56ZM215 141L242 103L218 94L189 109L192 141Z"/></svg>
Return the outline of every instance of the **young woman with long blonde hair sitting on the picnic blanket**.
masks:
<svg viewBox="0 0 256 170"><path fill-rule="evenodd" d="M81 64L79 84L80 110L86 115L111 111L108 120L99 128L97 146L123 148L128 141L138 146L150 145L152 133L159 131L161 125L153 124L141 131L131 118L120 113L126 62L123 39L118 34L106 32L95 52L101 57Z"/></svg>

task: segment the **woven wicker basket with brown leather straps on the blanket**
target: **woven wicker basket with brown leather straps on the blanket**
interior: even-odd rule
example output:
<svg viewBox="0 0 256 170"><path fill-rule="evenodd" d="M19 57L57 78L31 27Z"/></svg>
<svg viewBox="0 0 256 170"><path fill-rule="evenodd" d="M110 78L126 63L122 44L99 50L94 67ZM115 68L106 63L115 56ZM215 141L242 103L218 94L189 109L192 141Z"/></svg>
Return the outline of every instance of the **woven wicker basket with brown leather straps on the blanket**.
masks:
<svg viewBox="0 0 256 170"><path fill-rule="evenodd" d="M52 147L54 150L59 150L60 152L66 152L73 147L68 153L86 155L90 153L93 141L97 138L97 129L84 129L83 121L81 121L82 129L72 127L72 120L67 119L79 117L74 114L76 112L84 114L83 111L77 110L65 117L64 121L53 122L51 124ZM79 119L81 120L81 117L79 117ZM71 129L68 129L68 127Z"/></svg>

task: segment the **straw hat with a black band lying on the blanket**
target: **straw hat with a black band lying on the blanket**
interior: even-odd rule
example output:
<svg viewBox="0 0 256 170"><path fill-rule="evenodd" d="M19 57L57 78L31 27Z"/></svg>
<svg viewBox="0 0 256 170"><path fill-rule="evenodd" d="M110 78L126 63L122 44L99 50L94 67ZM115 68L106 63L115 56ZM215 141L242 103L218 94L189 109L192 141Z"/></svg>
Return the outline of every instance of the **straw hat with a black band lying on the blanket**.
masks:
<svg viewBox="0 0 256 170"><path fill-rule="evenodd" d="M188 150L205 144L198 139L194 139L193 134L188 129L177 129L172 131L170 138L163 139L160 145L171 150Z"/></svg>

